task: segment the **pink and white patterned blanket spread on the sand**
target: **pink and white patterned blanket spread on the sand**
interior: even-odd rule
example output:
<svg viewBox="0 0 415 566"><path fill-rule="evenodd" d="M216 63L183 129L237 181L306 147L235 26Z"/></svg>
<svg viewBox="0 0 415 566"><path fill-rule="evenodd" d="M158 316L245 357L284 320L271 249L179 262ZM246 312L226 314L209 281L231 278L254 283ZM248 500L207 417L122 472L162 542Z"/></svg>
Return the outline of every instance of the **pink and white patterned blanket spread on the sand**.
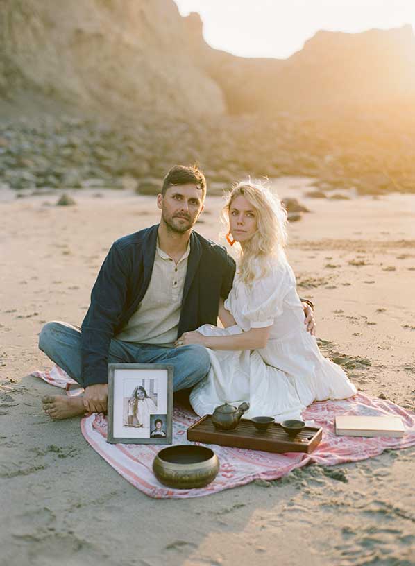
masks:
<svg viewBox="0 0 415 566"><path fill-rule="evenodd" d="M50 372L35 372L51 385L67 389L75 381L60 368ZM80 393L81 391L76 391ZM73 394L73 393L72 393ZM403 438L362 438L336 436L336 415L397 415L405 425ZM175 408L173 413L173 444L192 444L186 438L187 428L198 417L189 411ZM256 450L212 445L221 463L217 478L201 489L175 490L162 486L152 470L153 458L163 448L160 445L108 444L107 420L102 414L93 414L81 420L81 430L88 443L117 470L122 477L146 495L157 499L201 497L217 491L243 486L255 479L278 479L309 463L335 465L357 462L378 456L385 449L407 448L415 445L415 413L377 397L358 393L348 400L315 402L303 413L312 426L323 428L323 439L312 454L271 454ZM310 422L311 421L311 422Z"/></svg>

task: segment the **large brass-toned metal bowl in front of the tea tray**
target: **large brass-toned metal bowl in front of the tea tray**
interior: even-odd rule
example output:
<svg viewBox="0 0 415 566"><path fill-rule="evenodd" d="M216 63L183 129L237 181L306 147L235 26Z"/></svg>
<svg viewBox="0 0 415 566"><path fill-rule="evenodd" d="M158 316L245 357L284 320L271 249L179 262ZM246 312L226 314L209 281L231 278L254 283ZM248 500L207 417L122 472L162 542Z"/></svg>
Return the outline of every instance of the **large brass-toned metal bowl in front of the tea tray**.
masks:
<svg viewBox="0 0 415 566"><path fill-rule="evenodd" d="M217 477L219 459L204 446L170 446L155 456L153 472L169 488L203 488Z"/></svg>

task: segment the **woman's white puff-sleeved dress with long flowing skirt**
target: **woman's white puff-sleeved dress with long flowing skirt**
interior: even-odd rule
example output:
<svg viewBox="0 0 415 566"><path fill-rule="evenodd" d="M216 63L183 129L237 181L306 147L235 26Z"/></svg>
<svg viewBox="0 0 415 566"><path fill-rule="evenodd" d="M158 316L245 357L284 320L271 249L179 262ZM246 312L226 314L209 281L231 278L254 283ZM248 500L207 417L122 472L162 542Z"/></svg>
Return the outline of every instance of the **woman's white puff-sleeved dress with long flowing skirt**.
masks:
<svg viewBox="0 0 415 566"><path fill-rule="evenodd" d="M285 259L270 260L264 276L257 266L251 287L236 273L225 308L235 318L235 326L203 325L198 332L227 336L271 326L271 333L260 350L208 349L210 372L190 394L198 415L212 414L225 402L247 401L250 409L244 418L267 415L280 422L301 418L313 401L355 395L357 390L345 372L321 355L316 338L307 332L296 279Z"/></svg>

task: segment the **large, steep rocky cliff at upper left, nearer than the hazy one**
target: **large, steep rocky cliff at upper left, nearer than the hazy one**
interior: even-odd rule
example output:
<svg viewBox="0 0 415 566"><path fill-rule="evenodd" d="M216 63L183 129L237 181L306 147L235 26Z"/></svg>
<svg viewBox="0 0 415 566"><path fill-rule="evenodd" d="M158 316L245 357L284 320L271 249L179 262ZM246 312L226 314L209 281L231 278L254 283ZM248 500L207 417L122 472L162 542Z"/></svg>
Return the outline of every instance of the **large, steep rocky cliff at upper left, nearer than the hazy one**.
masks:
<svg viewBox="0 0 415 566"><path fill-rule="evenodd" d="M2 0L0 87L92 111L221 114L171 0Z"/></svg>

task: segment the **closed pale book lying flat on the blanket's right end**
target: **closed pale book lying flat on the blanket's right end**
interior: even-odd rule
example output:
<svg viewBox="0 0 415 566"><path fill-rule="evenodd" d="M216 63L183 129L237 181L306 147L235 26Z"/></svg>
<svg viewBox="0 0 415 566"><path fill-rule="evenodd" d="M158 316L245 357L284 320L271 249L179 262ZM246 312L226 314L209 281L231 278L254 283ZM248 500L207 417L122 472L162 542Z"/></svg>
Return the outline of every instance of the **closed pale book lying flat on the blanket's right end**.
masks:
<svg viewBox="0 0 415 566"><path fill-rule="evenodd" d="M400 438L405 434L400 417L357 417L341 415L336 417L336 434L341 436L389 436Z"/></svg>

